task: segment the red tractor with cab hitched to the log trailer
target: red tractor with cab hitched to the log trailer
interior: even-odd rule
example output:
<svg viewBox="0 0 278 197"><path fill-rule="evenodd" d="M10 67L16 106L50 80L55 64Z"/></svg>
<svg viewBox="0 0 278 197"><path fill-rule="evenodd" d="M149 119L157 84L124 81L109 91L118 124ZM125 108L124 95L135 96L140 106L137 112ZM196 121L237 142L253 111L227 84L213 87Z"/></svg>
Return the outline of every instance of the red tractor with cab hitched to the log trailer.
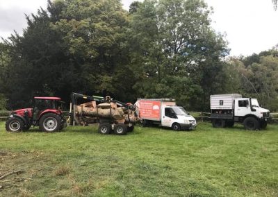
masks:
<svg viewBox="0 0 278 197"><path fill-rule="evenodd" d="M8 132L28 130L39 126L44 132L62 130L66 126L58 97L34 97L33 108L15 110L6 121Z"/></svg>

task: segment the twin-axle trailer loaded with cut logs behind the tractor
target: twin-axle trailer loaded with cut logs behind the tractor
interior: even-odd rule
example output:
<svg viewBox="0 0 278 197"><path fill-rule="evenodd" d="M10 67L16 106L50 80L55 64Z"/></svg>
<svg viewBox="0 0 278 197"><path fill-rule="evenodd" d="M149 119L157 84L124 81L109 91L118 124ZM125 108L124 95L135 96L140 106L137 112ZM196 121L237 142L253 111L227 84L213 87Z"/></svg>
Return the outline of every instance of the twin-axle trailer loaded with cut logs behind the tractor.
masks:
<svg viewBox="0 0 278 197"><path fill-rule="evenodd" d="M87 103L77 104L82 99ZM135 108L131 103L122 103L111 99L110 96L87 96L72 93L70 104L70 124L88 126L93 123L99 124L99 133L126 135L133 131L137 120Z"/></svg>

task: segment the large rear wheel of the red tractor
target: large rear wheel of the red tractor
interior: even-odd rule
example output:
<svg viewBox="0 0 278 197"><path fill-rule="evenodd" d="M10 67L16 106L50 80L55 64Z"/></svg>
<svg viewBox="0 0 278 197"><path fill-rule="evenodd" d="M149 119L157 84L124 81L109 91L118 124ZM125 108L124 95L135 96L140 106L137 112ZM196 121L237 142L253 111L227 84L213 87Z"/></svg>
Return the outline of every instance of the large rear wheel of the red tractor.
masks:
<svg viewBox="0 0 278 197"><path fill-rule="evenodd" d="M57 114L44 114L39 121L40 130L44 132L55 132L60 129L61 119Z"/></svg>

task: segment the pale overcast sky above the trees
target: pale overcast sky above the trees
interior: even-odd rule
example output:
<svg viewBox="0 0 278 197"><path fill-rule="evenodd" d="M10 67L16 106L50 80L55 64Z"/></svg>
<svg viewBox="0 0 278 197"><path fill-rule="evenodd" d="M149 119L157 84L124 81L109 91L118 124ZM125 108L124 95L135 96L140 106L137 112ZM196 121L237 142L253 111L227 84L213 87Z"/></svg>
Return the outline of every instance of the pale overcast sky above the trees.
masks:
<svg viewBox="0 0 278 197"><path fill-rule="evenodd" d="M133 0L122 0L129 9ZM213 28L227 34L231 55L251 55L278 44L278 10L271 0L205 0L214 13ZM46 8L47 0L0 0L0 37L22 33L26 15Z"/></svg>

